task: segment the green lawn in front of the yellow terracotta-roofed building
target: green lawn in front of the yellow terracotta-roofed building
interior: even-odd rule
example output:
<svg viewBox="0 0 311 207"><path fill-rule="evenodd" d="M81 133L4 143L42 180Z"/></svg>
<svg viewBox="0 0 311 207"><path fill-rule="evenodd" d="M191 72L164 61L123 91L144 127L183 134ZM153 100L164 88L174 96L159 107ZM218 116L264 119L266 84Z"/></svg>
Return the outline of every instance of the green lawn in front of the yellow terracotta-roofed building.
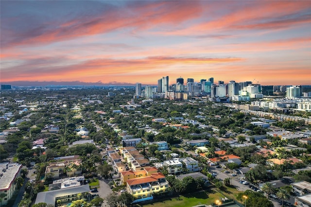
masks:
<svg viewBox="0 0 311 207"><path fill-rule="evenodd" d="M143 205L143 207L192 207L200 204L210 205L217 199L224 197L222 194L209 190L190 193L177 198L163 200L153 204Z"/></svg>

